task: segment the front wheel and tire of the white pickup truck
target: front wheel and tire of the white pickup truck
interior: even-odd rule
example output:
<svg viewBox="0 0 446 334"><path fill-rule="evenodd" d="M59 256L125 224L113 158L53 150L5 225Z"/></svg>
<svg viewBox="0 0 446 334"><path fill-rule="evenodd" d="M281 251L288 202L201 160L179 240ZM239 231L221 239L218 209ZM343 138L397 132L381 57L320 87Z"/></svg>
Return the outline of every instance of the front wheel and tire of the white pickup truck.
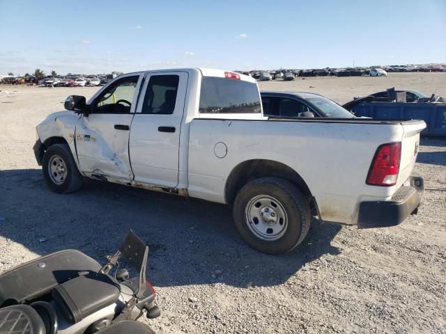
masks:
<svg viewBox="0 0 446 334"><path fill-rule="evenodd" d="M67 144L49 146L43 155L42 169L45 183L54 193L72 193L82 186L82 175Z"/></svg>

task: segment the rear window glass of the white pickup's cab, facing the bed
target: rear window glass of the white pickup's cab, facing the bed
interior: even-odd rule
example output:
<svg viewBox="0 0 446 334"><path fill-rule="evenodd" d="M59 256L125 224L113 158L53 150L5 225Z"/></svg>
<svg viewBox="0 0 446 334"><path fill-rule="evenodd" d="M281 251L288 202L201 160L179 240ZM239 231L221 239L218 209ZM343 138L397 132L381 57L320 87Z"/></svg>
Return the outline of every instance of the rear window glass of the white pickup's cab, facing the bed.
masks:
<svg viewBox="0 0 446 334"><path fill-rule="evenodd" d="M200 113L260 113L256 84L220 77L201 79Z"/></svg>

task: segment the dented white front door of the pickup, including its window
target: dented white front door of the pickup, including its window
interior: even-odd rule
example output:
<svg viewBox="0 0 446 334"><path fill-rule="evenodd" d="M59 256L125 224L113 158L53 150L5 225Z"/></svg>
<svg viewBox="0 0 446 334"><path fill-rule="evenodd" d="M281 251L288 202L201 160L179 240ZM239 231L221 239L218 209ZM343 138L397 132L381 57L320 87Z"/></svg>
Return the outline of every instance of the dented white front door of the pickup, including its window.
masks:
<svg viewBox="0 0 446 334"><path fill-rule="evenodd" d="M119 77L89 101L89 116L79 118L76 150L79 166L87 175L122 182L133 179L128 141L141 77L135 74Z"/></svg>

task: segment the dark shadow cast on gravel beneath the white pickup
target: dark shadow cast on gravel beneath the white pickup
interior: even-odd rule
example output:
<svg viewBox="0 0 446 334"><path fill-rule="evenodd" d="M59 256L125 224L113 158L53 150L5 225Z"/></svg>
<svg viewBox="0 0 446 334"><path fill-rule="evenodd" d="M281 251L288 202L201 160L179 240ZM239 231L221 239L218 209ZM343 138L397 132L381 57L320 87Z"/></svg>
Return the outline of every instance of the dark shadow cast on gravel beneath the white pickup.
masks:
<svg viewBox="0 0 446 334"><path fill-rule="evenodd" d="M316 221L291 253L265 255L244 243L225 205L105 182L58 195L40 169L1 170L0 193L1 237L37 255L77 248L104 262L133 229L151 248L147 276L159 287L279 285L322 255L339 254L330 243L340 225Z"/></svg>

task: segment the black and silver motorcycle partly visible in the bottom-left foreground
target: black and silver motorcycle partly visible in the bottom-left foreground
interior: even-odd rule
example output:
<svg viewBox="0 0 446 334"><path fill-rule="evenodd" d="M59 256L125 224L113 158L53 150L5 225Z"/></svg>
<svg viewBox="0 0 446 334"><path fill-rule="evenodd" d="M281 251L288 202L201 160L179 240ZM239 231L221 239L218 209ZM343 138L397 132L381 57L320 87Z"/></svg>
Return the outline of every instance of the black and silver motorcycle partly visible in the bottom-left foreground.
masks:
<svg viewBox="0 0 446 334"><path fill-rule="evenodd" d="M119 269L123 257L139 277ZM0 275L0 333L150 334L155 289L146 281L148 246L132 230L101 266L79 250L61 250ZM114 270L114 275L110 272Z"/></svg>

